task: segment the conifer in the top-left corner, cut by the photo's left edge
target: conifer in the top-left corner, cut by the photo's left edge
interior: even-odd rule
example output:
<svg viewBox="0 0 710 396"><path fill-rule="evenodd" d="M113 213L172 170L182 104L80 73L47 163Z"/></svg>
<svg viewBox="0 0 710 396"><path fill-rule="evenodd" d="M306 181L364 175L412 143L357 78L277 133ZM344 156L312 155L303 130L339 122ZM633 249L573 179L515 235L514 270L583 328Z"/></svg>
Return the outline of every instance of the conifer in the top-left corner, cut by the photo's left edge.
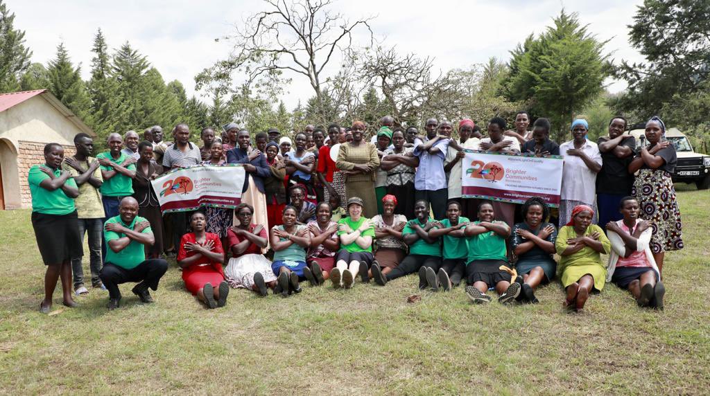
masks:
<svg viewBox="0 0 710 396"><path fill-rule="evenodd" d="M0 92L20 89L23 73L30 67L32 52L25 47L25 32L13 28L15 14L0 0Z"/></svg>

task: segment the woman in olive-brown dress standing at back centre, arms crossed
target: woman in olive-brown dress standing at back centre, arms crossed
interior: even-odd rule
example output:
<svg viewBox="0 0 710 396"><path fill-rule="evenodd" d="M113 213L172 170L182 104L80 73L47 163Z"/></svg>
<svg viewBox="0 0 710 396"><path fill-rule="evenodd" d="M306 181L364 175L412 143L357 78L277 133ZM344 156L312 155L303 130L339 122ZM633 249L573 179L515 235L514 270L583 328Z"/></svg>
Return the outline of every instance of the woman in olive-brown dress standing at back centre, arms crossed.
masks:
<svg viewBox="0 0 710 396"><path fill-rule="evenodd" d="M371 217L377 214L374 181L375 169L380 166L380 158L377 157L375 145L366 142L363 138L364 123L355 121L351 132L353 140L340 145L336 165L346 174L345 195L347 199L354 196L362 198L364 201L363 216Z"/></svg>

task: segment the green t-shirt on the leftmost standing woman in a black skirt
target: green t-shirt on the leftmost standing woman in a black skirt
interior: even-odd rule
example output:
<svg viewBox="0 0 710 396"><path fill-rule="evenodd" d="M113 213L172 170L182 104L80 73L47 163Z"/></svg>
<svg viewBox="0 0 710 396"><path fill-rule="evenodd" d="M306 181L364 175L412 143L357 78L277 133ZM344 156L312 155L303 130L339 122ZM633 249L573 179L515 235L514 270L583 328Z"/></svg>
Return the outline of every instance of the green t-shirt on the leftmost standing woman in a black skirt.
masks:
<svg viewBox="0 0 710 396"><path fill-rule="evenodd" d="M49 191L46 188L40 187L40 183L42 183L44 179L49 179L49 175L41 171L40 166L46 167L46 165L33 165L27 176L27 182L30 185L30 193L32 194L32 211L44 213L45 215L68 215L75 211L74 200L67 197L67 194L65 194L61 188L57 188L55 191ZM55 177L59 177L61 174L61 169L54 171ZM77 186L77 183L71 177L67 179L65 184L75 188Z"/></svg>

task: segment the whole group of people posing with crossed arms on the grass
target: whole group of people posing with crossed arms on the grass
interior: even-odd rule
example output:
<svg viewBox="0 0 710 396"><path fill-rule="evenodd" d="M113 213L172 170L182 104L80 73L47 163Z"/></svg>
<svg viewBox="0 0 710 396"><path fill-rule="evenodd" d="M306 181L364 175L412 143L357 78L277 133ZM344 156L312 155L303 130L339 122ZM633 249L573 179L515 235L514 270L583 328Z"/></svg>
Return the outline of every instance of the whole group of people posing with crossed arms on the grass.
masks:
<svg viewBox="0 0 710 396"><path fill-rule="evenodd" d="M67 306L76 305L72 283L73 294L89 293L84 234L92 287L108 290L109 309L120 306L126 282L152 302L149 289L158 288L168 269L163 257L173 254L186 289L209 308L224 306L230 288L288 296L302 291L302 281L349 289L357 278L386 285L417 273L421 289L465 282L474 302L490 301L491 288L502 303L535 303L536 288L559 276L573 310L606 281L630 290L640 306L662 309L665 251L682 249L670 178L677 159L662 120L648 120L648 145L639 148L621 117L597 143L587 139L586 121L574 120L572 140L562 145L550 140L545 118L528 130L525 112L515 115L514 130L492 118L486 136L461 120L457 139L448 120L430 118L425 135L394 122L383 117L369 142L356 121L308 125L293 142L275 128L252 135L229 123L219 137L204 128L202 147L185 124L175 126L173 142L156 126L142 142L134 131L109 135L109 151L95 158L89 135L75 137L76 154L66 159L61 145L47 145L45 164L28 175L47 265L40 310L49 312L58 278ZM559 210L540 198L516 205L462 196L465 149L562 155ZM200 164L242 164L241 204L161 213L151 181Z"/></svg>

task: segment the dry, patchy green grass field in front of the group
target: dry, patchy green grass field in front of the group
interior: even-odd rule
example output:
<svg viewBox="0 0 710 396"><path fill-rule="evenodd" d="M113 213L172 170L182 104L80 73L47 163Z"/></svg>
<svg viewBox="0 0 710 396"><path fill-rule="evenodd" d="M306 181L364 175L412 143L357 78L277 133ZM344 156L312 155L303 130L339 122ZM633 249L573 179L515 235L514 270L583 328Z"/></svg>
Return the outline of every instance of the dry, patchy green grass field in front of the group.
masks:
<svg viewBox="0 0 710 396"><path fill-rule="evenodd" d="M666 256L665 312L609 284L581 315L558 283L540 305L481 306L462 288L420 293L416 276L287 299L231 290L205 310L173 265L153 305L124 285L119 310L94 290L62 310L58 290L47 316L30 212L0 212L0 393L707 394L710 193L678 188L685 249Z"/></svg>

